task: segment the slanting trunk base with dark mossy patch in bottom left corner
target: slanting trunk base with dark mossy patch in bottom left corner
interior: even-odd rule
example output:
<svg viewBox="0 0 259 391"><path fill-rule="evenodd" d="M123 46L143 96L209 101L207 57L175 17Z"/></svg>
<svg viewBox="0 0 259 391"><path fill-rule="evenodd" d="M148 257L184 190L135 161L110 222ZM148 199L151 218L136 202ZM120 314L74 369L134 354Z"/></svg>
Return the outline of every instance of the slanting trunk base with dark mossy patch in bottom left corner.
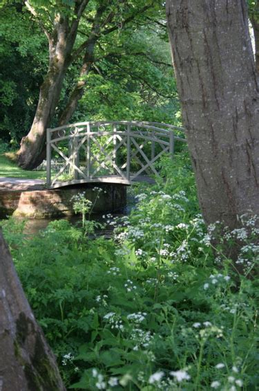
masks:
<svg viewBox="0 0 259 391"><path fill-rule="evenodd" d="M0 390L65 390L0 232Z"/></svg>

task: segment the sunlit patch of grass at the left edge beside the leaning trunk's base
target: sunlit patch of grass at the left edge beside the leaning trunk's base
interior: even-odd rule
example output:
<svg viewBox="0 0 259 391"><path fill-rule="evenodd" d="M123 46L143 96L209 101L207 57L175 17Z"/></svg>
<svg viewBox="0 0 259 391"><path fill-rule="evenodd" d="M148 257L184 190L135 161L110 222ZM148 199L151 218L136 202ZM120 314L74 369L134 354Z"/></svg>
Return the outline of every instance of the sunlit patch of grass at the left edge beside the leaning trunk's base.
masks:
<svg viewBox="0 0 259 391"><path fill-rule="evenodd" d="M6 154L0 154L0 177L21 179L46 179L45 171L26 171L17 166Z"/></svg>

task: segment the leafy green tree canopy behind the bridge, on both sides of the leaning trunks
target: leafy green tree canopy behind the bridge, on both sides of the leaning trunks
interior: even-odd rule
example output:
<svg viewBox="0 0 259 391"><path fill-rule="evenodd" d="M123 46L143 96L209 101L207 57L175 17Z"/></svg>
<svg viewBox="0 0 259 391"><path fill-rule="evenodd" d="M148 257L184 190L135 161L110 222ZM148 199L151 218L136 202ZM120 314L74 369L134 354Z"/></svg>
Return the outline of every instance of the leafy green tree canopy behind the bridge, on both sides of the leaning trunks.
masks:
<svg viewBox="0 0 259 391"><path fill-rule="evenodd" d="M26 7L23 1L10 1L0 15L0 131L1 137L15 147L30 129L39 87L48 69L46 35L55 36L59 17L66 19L69 26L75 20L75 1L29 3ZM140 11L143 8L144 12ZM90 1L79 22L73 54L90 35L97 10L103 13L94 64L90 73L82 77L86 80L86 91L70 122L135 119L180 125L167 33L162 27L164 7L160 1ZM106 34L109 29L111 33ZM58 124L80 80L84 54L81 51L75 56L66 72L51 127Z"/></svg>

